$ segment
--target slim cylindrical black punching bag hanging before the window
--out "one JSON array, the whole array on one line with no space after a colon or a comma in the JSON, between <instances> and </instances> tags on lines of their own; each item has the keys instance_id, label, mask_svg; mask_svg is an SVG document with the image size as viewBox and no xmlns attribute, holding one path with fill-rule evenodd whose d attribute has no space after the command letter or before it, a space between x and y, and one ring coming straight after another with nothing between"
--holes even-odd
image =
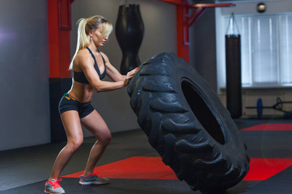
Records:
<instances>
[{"instance_id":1,"label":"slim cylindrical black punching bag hanging before the window","mask_svg":"<svg viewBox=\"0 0 292 194\"><path fill-rule=\"evenodd\" d=\"M242 112L240 34L225 35L227 110L232 118Z\"/></svg>"}]
</instances>

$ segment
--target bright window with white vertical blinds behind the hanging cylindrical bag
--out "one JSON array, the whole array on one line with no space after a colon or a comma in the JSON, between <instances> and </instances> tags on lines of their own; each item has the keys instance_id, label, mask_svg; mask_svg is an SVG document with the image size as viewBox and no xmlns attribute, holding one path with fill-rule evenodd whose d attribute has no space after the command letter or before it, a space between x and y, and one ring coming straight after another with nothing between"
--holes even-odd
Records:
<instances>
[{"instance_id":1,"label":"bright window with white vertical blinds behind the hanging cylindrical bag","mask_svg":"<svg viewBox=\"0 0 292 194\"><path fill-rule=\"evenodd\" d=\"M292 85L292 15L235 16L242 86ZM229 16L225 18L225 29ZM228 33L237 33L235 26Z\"/></svg>"}]
</instances>

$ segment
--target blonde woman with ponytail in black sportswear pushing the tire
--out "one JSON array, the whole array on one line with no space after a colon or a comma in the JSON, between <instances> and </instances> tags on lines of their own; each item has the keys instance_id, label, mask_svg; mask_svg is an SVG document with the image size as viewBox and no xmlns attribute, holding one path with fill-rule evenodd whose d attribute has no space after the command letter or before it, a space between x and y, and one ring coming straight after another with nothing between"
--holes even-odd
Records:
<instances>
[{"instance_id":1,"label":"blonde woman with ponytail in black sportswear pushing the tire","mask_svg":"<svg viewBox=\"0 0 292 194\"><path fill-rule=\"evenodd\" d=\"M71 90L65 93L59 103L59 112L65 128L68 143L58 154L50 178L45 185L45 193L64 194L64 189L57 179L75 151L83 142L81 124L97 139L91 148L84 174L79 184L105 184L109 179L101 178L93 172L97 161L102 156L111 140L110 130L91 105L93 90L105 92L128 85L136 71L133 69L123 76L114 68L103 52L98 50L108 41L112 31L111 23L103 16L92 16L78 20L77 49L69 69L73 70ZM113 82L101 81L106 74Z\"/></svg>"}]
</instances>

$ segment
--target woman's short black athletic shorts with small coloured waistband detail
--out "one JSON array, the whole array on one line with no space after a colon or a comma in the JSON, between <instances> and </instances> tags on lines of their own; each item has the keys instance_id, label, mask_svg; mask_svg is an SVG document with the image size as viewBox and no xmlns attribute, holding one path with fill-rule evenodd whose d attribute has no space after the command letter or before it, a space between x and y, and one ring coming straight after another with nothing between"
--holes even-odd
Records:
<instances>
[{"instance_id":1,"label":"woman's short black athletic shorts with small coloured waistband detail","mask_svg":"<svg viewBox=\"0 0 292 194\"><path fill-rule=\"evenodd\" d=\"M59 113L64 113L66 111L77 111L80 118L83 118L89 115L92 111L94 111L93 106L90 102L80 103L77 100L73 99L69 96L68 92L64 94L59 103Z\"/></svg>"}]
</instances>

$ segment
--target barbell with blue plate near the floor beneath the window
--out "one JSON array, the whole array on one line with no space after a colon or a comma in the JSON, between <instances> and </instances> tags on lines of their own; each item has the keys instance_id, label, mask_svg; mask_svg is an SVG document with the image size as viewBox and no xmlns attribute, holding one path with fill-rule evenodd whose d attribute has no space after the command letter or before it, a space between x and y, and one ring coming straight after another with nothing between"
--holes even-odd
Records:
<instances>
[{"instance_id":1,"label":"barbell with blue plate near the floor beneath the window","mask_svg":"<svg viewBox=\"0 0 292 194\"><path fill-rule=\"evenodd\" d=\"M284 103L292 103L292 101L285 101L283 102L280 97L277 97L276 103L273 106L263 106L263 101L259 97L256 101L256 106L247 106L246 109L256 109L257 117L261 118L263 114L263 109L275 109L277 111L284 112L284 117L289 118L292 116L292 111L284 111L283 104Z\"/></svg>"}]
</instances>

